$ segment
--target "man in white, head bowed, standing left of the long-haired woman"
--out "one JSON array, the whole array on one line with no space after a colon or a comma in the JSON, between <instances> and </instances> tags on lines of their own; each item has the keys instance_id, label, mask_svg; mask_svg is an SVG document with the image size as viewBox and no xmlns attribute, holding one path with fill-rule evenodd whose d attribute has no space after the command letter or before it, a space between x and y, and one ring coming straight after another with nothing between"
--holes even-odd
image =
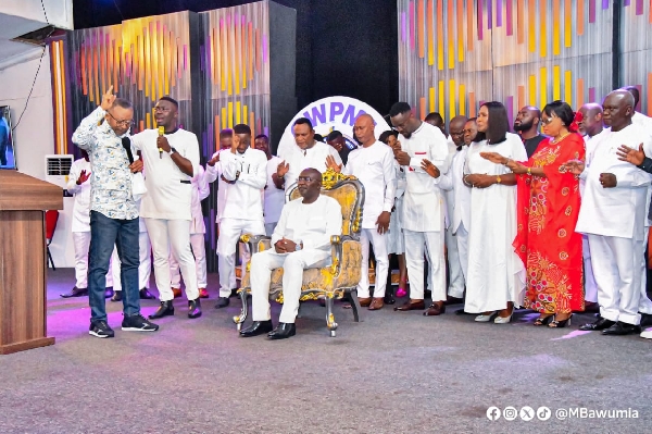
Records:
<instances>
[{"instance_id":1,"label":"man in white, head bowed, standing left of the long-haired woman","mask_svg":"<svg viewBox=\"0 0 652 434\"><path fill-rule=\"evenodd\" d=\"M432 303L425 312L444 312L447 299L446 261L443 259L446 212L440 182L448 172L448 144L441 131L414 116L406 102L397 102L390 112L391 123L400 133L401 150L394 152L405 170L403 233L405 262L410 276L410 300L398 311L424 309L424 245L432 282Z\"/></svg>"}]
</instances>

